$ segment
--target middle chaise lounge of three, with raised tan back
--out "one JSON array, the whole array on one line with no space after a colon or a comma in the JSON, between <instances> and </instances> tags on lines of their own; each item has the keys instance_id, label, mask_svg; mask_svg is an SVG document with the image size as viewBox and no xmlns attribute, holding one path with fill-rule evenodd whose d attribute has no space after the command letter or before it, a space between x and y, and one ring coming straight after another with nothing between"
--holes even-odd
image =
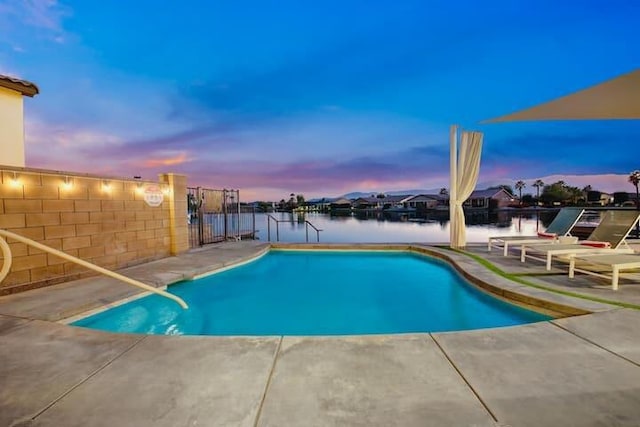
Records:
<instances>
[{"instance_id":1,"label":"middle chaise lounge of three, with raised tan back","mask_svg":"<svg viewBox=\"0 0 640 427\"><path fill-rule=\"evenodd\" d=\"M630 254L630 248L625 239L629 235L633 226L640 219L637 211L607 211L602 221L593 230L587 240L575 244L553 244L553 245L522 245L520 261L525 262L527 253L544 255L547 261L547 270L551 270L551 259L553 256L566 256L569 259L580 255L608 255L608 254Z\"/></svg>"}]
</instances>

